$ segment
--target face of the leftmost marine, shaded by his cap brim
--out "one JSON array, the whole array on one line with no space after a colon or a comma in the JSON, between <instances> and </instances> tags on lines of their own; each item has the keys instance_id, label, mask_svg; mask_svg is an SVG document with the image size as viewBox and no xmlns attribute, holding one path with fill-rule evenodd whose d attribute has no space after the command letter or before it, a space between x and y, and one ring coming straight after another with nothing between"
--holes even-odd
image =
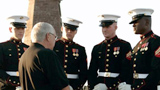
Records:
<instances>
[{"instance_id":1,"label":"face of the leftmost marine, shaded by his cap brim","mask_svg":"<svg viewBox=\"0 0 160 90\"><path fill-rule=\"evenodd\" d=\"M25 28L22 27L10 27L9 28L10 32L12 33L12 37L17 39L17 40L22 40Z\"/></svg>"}]
</instances>

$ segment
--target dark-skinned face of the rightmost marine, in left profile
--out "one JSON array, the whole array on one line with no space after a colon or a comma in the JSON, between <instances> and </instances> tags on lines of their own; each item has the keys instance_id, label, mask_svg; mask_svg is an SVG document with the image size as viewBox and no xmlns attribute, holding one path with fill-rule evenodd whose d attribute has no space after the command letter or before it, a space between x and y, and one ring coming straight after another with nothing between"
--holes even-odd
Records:
<instances>
[{"instance_id":1,"label":"dark-skinned face of the rightmost marine, in left profile","mask_svg":"<svg viewBox=\"0 0 160 90\"><path fill-rule=\"evenodd\" d=\"M145 34L145 19L141 18L133 24L135 34Z\"/></svg>"}]
</instances>

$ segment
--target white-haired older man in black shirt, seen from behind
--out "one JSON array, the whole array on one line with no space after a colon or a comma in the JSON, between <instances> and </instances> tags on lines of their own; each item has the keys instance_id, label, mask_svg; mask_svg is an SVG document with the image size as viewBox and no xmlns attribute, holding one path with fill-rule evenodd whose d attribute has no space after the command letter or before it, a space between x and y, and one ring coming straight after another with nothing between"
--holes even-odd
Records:
<instances>
[{"instance_id":1,"label":"white-haired older man in black shirt, seen from behind","mask_svg":"<svg viewBox=\"0 0 160 90\"><path fill-rule=\"evenodd\" d=\"M23 90L70 90L59 58L53 52L56 32L51 24L37 23L31 32L32 45L19 63Z\"/></svg>"}]
</instances>

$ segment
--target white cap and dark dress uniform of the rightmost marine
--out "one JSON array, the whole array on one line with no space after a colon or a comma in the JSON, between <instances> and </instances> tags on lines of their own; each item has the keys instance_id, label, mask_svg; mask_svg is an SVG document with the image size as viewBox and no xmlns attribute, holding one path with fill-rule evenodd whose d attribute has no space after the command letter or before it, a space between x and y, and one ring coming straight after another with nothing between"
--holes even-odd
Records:
<instances>
[{"instance_id":1,"label":"white cap and dark dress uniform of the rightmost marine","mask_svg":"<svg viewBox=\"0 0 160 90\"><path fill-rule=\"evenodd\" d=\"M139 24L143 17L151 19L152 13L152 9L131 10L129 14L134 15L130 24ZM137 27L138 24L136 24ZM132 90L157 90L160 80L160 37L152 30L141 35L141 40L134 47L131 68Z\"/></svg>"}]
</instances>

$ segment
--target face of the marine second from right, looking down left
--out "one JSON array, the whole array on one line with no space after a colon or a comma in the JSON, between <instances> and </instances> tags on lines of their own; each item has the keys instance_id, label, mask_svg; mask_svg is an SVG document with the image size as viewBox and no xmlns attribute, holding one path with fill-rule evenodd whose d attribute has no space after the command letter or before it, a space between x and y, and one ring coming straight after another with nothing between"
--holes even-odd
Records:
<instances>
[{"instance_id":1,"label":"face of the marine second from right, looking down left","mask_svg":"<svg viewBox=\"0 0 160 90\"><path fill-rule=\"evenodd\" d=\"M113 23L109 27L102 27L102 33L106 40L111 39L115 36L115 31L117 29L116 23Z\"/></svg>"}]
</instances>

